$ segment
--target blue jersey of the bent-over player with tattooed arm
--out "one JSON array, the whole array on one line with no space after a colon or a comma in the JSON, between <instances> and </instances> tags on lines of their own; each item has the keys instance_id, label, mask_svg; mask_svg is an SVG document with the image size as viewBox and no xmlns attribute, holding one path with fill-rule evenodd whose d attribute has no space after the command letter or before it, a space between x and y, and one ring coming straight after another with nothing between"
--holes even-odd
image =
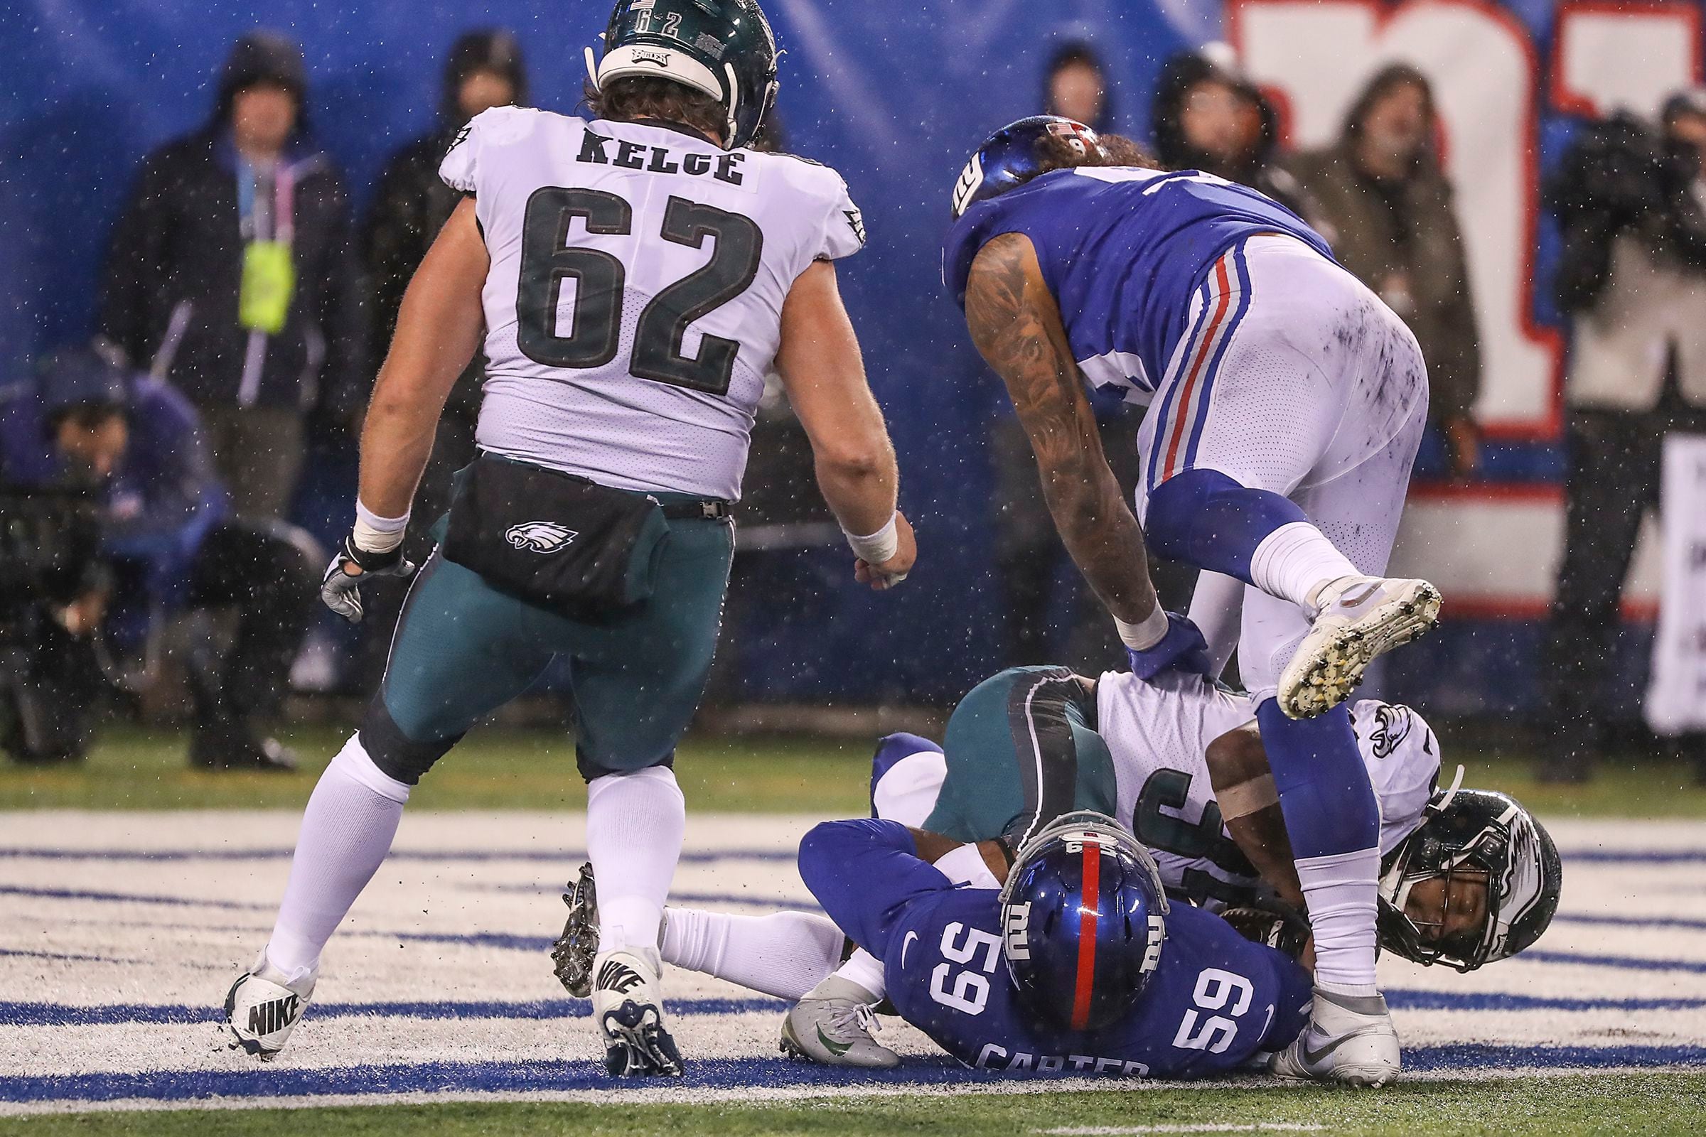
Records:
<instances>
[{"instance_id":1,"label":"blue jersey of the bent-over player with tattooed arm","mask_svg":"<svg viewBox=\"0 0 1706 1137\"><path fill-rule=\"evenodd\" d=\"M1036 247L1092 390L1140 406L1162 382L1191 295L1220 254L1254 234L1288 234L1332 257L1291 210L1213 174L1053 170L979 201L949 230L942 281L962 307L972 259L1001 234L1024 234Z\"/></svg>"}]
</instances>

